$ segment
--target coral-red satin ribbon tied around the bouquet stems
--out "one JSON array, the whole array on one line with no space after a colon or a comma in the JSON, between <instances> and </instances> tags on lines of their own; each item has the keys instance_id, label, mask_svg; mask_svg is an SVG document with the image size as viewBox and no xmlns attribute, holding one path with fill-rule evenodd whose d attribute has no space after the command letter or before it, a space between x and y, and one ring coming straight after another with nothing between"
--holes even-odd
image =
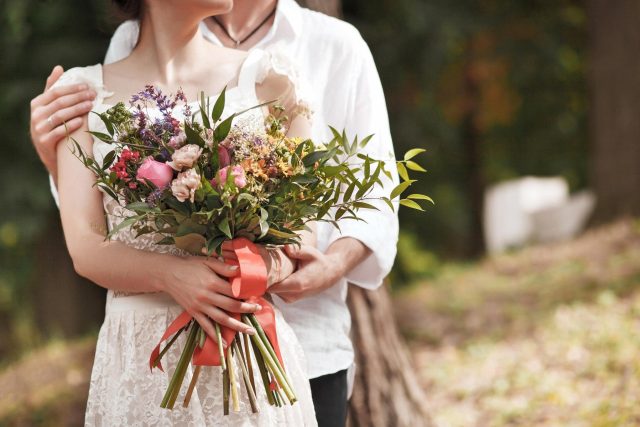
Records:
<instances>
[{"instance_id":1,"label":"coral-red satin ribbon tied around the bouquet stems","mask_svg":"<svg viewBox=\"0 0 640 427\"><path fill-rule=\"evenodd\" d=\"M258 323L262 326L265 334L271 341L271 345L276 352L276 356L282 366L282 356L280 355L280 346L278 345L278 336L276 335L276 318L271 303L267 301L263 295L267 291L267 266L258 251L256 245L244 237L233 239L231 241L233 251L238 258L238 274L231 278L231 291L233 296L238 299L242 299L254 304L260 304L262 309L254 313ZM235 264L233 261L227 261ZM238 313L229 313L229 315L237 320L240 320ZM164 335L160 339L158 345L151 352L149 358L149 367L153 370L154 362L160 355L160 345L166 341L173 334L178 332L189 324L193 317L186 311L183 311L167 328ZM220 332L222 337L227 342L227 346L224 348L226 351L228 346L236 336L236 331L225 326L220 325ZM192 363L193 365L201 366L220 366L220 352L218 351L218 344L210 337L207 336L202 348L196 346L193 353ZM158 360L158 368L164 372L162 364Z\"/></svg>"}]
</instances>

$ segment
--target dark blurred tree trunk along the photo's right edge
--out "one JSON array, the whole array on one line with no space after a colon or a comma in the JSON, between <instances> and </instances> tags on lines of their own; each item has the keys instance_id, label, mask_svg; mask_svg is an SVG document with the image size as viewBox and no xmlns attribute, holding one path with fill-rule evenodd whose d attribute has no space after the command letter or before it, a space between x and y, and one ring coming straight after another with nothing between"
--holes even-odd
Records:
<instances>
[{"instance_id":1,"label":"dark blurred tree trunk along the photo's right edge","mask_svg":"<svg viewBox=\"0 0 640 427\"><path fill-rule=\"evenodd\" d=\"M640 2L589 0L596 222L640 214Z\"/></svg>"}]
</instances>

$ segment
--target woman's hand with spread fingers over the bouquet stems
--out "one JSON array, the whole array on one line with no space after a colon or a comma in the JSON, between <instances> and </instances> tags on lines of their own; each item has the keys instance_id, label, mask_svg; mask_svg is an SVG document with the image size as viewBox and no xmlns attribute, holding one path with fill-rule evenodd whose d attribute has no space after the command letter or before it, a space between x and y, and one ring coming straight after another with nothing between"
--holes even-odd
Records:
<instances>
[{"instance_id":1,"label":"woman's hand with spread fingers over the bouquet stems","mask_svg":"<svg viewBox=\"0 0 640 427\"><path fill-rule=\"evenodd\" d=\"M212 322L239 332L253 335L255 330L229 316L231 313L253 313L261 309L257 304L233 298L226 278L237 274L237 267L215 258L187 257L172 265L163 277L161 289L170 294L215 340Z\"/></svg>"}]
</instances>

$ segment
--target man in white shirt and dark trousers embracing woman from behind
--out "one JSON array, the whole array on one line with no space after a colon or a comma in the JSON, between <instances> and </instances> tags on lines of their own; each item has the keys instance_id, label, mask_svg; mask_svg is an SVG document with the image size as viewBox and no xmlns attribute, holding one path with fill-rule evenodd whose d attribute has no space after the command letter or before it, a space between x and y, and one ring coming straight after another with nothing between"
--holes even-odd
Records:
<instances>
[{"instance_id":1,"label":"man in white shirt and dark trousers embracing woman from behind","mask_svg":"<svg viewBox=\"0 0 640 427\"><path fill-rule=\"evenodd\" d=\"M380 79L366 43L353 26L304 9L294 0L235 0L229 14L208 19L201 29L219 45L284 52L300 76L313 85L301 95L314 110L315 140L332 139L327 125L346 129L351 137L373 133L363 153L374 158L393 155ZM122 24L105 62L128 56L138 30L137 22ZM45 92L31 103L33 143L52 182L57 172L55 147L67 130L80 127L79 117L91 109L88 101L95 96L91 89L79 87L47 91L62 71L54 68ZM397 182L395 162L387 167L393 171L393 180L376 190L378 195L388 195ZM289 249L289 256L298 260L298 270L270 288L304 348L320 426L342 426L346 420L354 368L347 284L377 288L396 255L396 214L383 206L380 211L360 211L359 216L366 222L341 220L340 231L320 223L317 247Z\"/></svg>"}]
</instances>

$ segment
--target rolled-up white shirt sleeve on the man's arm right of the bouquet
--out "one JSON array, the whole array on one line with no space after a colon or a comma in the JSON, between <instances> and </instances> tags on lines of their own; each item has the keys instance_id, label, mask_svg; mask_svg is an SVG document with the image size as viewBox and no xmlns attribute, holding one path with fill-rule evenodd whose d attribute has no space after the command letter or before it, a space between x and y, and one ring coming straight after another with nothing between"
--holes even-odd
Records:
<instances>
[{"instance_id":1,"label":"rolled-up white shirt sleeve on the man's arm right of the bouquet","mask_svg":"<svg viewBox=\"0 0 640 427\"><path fill-rule=\"evenodd\" d=\"M349 81L355 84L350 98L346 130L350 138L358 135L362 139L367 135L374 135L361 152L371 158L384 160L391 178L381 174L383 185L376 185L371 197L388 197L398 184L398 171L384 92L371 51L360 36L354 50L351 56L353 72ZM349 282L365 289L376 289L382 284L393 266L398 242L397 203L394 203L393 211L381 200L374 200L371 204L379 210L360 209L357 215L363 221L341 219L338 221L340 229L334 228L329 238L330 245L340 238L352 237L371 250L371 254L346 275Z\"/></svg>"}]
</instances>

